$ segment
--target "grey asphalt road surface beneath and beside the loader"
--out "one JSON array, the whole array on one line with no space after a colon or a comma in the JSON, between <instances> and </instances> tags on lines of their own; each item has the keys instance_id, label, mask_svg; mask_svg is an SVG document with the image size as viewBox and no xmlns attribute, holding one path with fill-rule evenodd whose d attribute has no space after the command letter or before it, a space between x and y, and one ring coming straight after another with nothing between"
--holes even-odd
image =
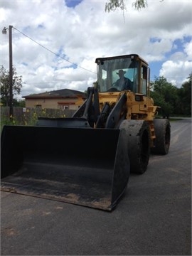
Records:
<instances>
[{"instance_id":1,"label":"grey asphalt road surface beneath and beside the loader","mask_svg":"<svg viewBox=\"0 0 192 256\"><path fill-rule=\"evenodd\" d=\"M1 192L1 255L191 255L191 119L112 212Z\"/></svg>"}]
</instances>

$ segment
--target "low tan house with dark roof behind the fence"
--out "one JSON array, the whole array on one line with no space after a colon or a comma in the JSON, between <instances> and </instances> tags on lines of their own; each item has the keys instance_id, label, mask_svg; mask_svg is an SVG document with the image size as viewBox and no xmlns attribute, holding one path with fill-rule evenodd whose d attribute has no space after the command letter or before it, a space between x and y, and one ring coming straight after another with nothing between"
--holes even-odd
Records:
<instances>
[{"instance_id":1,"label":"low tan house with dark roof behind the fence","mask_svg":"<svg viewBox=\"0 0 192 256\"><path fill-rule=\"evenodd\" d=\"M26 99L26 107L42 107L58 110L78 110L85 101L84 92L70 89L54 90L23 96Z\"/></svg>"}]
</instances>

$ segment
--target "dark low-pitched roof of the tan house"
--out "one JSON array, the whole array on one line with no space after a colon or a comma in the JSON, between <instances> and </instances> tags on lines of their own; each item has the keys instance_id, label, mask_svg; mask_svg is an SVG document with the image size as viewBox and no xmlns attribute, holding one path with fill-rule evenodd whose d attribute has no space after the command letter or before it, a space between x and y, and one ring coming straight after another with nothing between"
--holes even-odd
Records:
<instances>
[{"instance_id":1,"label":"dark low-pitched roof of the tan house","mask_svg":"<svg viewBox=\"0 0 192 256\"><path fill-rule=\"evenodd\" d=\"M31 99L31 98L53 98L53 97L86 97L84 92L80 92L78 90L70 90L70 89L61 89L61 90L54 90L50 92L42 92L36 93L31 95L23 96L23 98Z\"/></svg>"}]
</instances>

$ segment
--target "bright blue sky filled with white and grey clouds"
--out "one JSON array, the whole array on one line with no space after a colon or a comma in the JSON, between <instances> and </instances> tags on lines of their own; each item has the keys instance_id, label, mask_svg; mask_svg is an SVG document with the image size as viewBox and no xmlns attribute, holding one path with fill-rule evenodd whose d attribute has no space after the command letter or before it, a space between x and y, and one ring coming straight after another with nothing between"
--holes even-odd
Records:
<instances>
[{"instance_id":1,"label":"bright blue sky filled with white and grey clouds","mask_svg":"<svg viewBox=\"0 0 192 256\"><path fill-rule=\"evenodd\" d=\"M11 29L13 65L22 75L18 99L97 80L95 58L139 54L151 80L177 87L192 72L192 0L148 0L137 11L105 12L107 0L1 0L0 23ZM9 29L0 36L0 65L9 70Z\"/></svg>"}]
</instances>

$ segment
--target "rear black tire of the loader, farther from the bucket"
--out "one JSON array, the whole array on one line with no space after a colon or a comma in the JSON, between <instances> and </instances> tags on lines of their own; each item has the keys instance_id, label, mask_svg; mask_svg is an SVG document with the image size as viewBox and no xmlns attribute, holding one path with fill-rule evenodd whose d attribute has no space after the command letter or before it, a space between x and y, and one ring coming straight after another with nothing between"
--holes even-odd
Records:
<instances>
[{"instance_id":1,"label":"rear black tire of the loader, farther from the bucket","mask_svg":"<svg viewBox=\"0 0 192 256\"><path fill-rule=\"evenodd\" d=\"M151 152L154 154L168 154L171 140L171 125L169 119L154 119L154 130L156 139Z\"/></svg>"}]
</instances>

